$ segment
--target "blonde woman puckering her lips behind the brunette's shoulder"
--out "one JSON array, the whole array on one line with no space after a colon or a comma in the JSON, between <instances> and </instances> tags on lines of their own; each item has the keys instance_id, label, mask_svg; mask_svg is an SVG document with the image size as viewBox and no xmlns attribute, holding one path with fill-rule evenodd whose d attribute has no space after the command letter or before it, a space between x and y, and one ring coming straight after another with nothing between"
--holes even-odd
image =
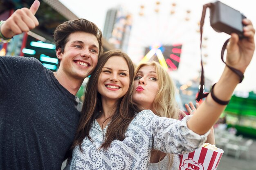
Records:
<instances>
[{"instance_id":1,"label":"blonde woman puckering her lips behind the brunette's shoulder","mask_svg":"<svg viewBox=\"0 0 256 170\"><path fill-rule=\"evenodd\" d=\"M176 92L177 88L173 80L159 63L153 61L137 65L132 99L139 109L149 109L157 116L181 120L186 114L178 107L175 100ZM189 105L186 104L185 107L189 113L195 110L192 102ZM207 142L215 144L214 136L211 137L211 135L213 133L207 137L207 140L211 139ZM179 164L179 155L166 154L153 149L148 169L177 170Z\"/></svg>"}]
</instances>

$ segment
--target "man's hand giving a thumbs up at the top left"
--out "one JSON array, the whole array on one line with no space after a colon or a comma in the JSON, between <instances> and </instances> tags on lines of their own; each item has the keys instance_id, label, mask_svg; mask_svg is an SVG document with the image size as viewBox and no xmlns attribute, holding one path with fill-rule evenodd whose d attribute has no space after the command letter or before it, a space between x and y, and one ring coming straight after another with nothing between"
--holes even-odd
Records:
<instances>
[{"instance_id":1,"label":"man's hand giving a thumbs up at the top left","mask_svg":"<svg viewBox=\"0 0 256 170\"><path fill-rule=\"evenodd\" d=\"M22 8L16 10L1 26L0 31L6 38L28 32L39 25L34 16L38 10L40 2L35 0L30 9Z\"/></svg>"}]
</instances>

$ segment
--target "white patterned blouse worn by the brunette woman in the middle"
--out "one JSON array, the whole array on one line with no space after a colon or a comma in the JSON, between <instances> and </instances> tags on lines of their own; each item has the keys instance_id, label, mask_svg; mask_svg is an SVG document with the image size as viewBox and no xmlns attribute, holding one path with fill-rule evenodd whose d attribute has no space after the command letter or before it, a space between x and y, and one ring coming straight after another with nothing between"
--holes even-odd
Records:
<instances>
[{"instance_id":1,"label":"white patterned blouse worn by the brunette woman in the middle","mask_svg":"<svg viewBox=\"0 0 256 170\"><path fill-rule=\"evenodd\" d=\"M186 121L158 117L150 110L136 113L126 131L123 141L114 140L110 147L99 149L105 138L108 125L103 129L94 120L90 129L91 142L88 137L76 146L65 170L115 170L147 169L151 149L164 153L184 154L201 146L208 133L198 135L188 129Z\"/></svg>"}]
</instances>

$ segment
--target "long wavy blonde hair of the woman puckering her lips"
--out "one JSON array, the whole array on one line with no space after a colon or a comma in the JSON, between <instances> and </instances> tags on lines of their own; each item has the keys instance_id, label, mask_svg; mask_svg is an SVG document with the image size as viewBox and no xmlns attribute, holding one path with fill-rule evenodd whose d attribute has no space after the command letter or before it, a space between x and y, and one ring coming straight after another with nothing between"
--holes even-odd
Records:
<instances>
[{"instance_id":1,"label":"long wavy blonde hair of the woman puckering her lips","mask_svg":"<svg viewBox=\"0 0 256 170\"><path fill-rule=\"evenodd\" d=\"M149 63L141 63L137 65L135 68L135 76L139 69L144 66L154 66L156 71L156 78L158 82L158 92L155 96L155 100L153 102L153 112L160 117L179 119L180 118L180 109L175 100L175 94L177 92L177 88L169 76L168 72L164 70L164 68L157 62L152 61ZM136 104L135 104L136 105ZM139 106L137 106L139 107ZM147 109L147 108L140 108ZM157 150L157 152L160 152ZM171 168L173 164L173 154L166 154L168 156L168 167ZM162 160L162 157L159 157L159 161Z\"/></svg>"}]
</instances>

